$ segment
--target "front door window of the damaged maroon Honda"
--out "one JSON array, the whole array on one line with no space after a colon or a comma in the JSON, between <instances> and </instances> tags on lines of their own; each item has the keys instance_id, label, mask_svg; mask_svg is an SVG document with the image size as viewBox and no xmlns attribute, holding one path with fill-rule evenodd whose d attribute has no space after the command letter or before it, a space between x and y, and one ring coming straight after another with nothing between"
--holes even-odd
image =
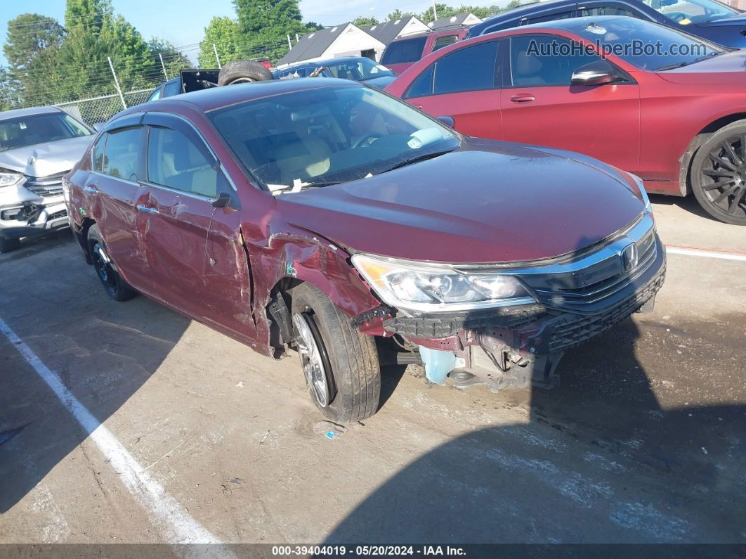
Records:
<instances>
[{"instance_id":1,"label":"front door window of the damaged maroon Honda","mask_svg":"<svg viewBox=\"0 0 746 559\"><path fill-rule=\"evenodd\" d=\"M203 143L160 126L151 127L148 138L148 181L209 198L230 192Z\"/></svg>"}]
</instances>

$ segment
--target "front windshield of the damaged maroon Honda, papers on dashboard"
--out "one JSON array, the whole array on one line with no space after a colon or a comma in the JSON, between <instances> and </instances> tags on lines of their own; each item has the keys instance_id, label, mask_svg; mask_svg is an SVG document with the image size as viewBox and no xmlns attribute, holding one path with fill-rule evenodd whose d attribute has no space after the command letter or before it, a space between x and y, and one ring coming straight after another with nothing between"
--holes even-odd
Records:
<instances>
[{"instance_id":1,"label":"front windshield of the damaged maroon Honda, papers on dashboard","mask_svg":"<svg viewBox=\"0 0 746 559\"><path fill-rule=\"evenodd\" d=\"M361 85L282 93L208 114L273 191L354 181L460 144L438 121Z\"/></svg>"}]
</instances>

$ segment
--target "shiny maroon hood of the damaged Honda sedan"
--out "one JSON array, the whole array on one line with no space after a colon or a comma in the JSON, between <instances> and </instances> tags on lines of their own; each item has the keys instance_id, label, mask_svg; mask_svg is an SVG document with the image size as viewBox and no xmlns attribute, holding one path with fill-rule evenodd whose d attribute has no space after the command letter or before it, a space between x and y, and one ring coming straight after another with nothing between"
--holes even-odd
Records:
<instances>
[{"instance_id":1,"label":"shiny maroon hood of the damaged Honda sedan","mask_svg":"<svg viewBox=\"0 0 746 559\"><path fill-rule=\"evenodd\" d=\"M278 196L288 222L352 251L487 263L555 257L642 213L639 190L590 157L489 140L345 184Z\"/></svg>"}]
</instances>

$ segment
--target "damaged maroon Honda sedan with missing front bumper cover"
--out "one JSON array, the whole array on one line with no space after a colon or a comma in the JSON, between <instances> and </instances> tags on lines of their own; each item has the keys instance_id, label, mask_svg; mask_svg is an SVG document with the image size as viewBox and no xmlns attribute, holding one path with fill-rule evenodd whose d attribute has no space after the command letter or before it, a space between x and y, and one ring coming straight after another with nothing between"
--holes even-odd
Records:
<instances>
[{"instance_id":1,"label":"damaged maroon Honda sedan with missing front bumper cover","mask_svg":"<svg viewBox=\"0 0 746 559\"><path fill-rule=\"evenodd\" d=\"M639 179L471 140L333 78L237 85L119 113L66 176L72 227L134 290L281 357L348 422L380 366L551 384L562 352L650 307L660 245Z\"/></svg>"}]
</instances>

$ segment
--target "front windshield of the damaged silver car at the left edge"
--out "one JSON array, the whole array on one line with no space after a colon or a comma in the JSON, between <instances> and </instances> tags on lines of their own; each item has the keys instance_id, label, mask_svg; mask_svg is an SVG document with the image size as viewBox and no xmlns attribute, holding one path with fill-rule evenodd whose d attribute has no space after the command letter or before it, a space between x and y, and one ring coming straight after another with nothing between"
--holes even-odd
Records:
<instances>
[{"instance_id":1,"label":"front windshield of the damaged silver car at the left edge","mask_svg":"<svg viewBox=\"0 0 746 559\"><path fill-rule=\"evenodd\" d=\"M0 152L90 134L88 128L65 113L16 116L0 120Z\"/></svg>"}]
</instances>

